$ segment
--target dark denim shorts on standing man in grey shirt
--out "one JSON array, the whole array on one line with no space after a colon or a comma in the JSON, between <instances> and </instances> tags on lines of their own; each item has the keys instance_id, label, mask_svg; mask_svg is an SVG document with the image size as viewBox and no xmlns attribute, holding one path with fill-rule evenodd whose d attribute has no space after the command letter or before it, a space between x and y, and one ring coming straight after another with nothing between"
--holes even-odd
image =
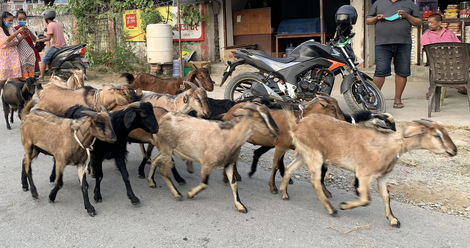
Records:
<instances>
[{"instance_id":1,"label":"dark denim shorts on standing man in grey shirt","mask_svg":"<svg viewBox=\"0 0 470 248\"><path fill-rule=\"evenodd\" d=\"M387 44L376 46L376 72L374 77L392 76L392 63L395 74L401 77L411 75L411 44Z\"/></svg>"}]
</instances>

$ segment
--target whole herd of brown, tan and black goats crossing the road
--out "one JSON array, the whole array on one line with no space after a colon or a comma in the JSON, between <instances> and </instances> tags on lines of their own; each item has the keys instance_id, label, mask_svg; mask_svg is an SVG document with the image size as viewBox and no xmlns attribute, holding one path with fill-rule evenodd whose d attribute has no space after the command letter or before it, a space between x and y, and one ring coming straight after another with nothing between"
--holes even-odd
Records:
<instances>
[{"instance_id":1,"label":"whole herd of brown, tan and black goats crossing the road","mask_svg":"<svg viewBox=\"0 0 470 248\"><path fill-rule=\"evenodd\" d=\"M235 163L242 145L249 142L261 146L254 152L250 176L256 171L259 157L275 149L268 183L272 194L278 193L274 178L279 170L282 199L289 200L290 178L305 164L321 203L329 214L335 215L337 210L327 199L331 198L331 193L323 183L328 166L335 165L355 173L356 192L360 197L358 201L342 202L340 209L368 205L370 183L377 178L385 216L392 226L399 227L400 222L390 208L386 183L400 155L416 149L447 156L457 154L443 124L420 119L403 124L397 132L392 115L363 111L349 116L341 111L337 100L328 95L317 95L318 100L298 107L290 104L279 107L267 98L212 99L206 93L214 88L209 70L197 66L186 78L164 79L146 73L135 78L125 73L122 77L128 84L103 85L102 89L86 86L87 78L82 71L75 71L68 81L53 76L46 85L39 84L35 78L2 85L7 128L11 129L8 115L11 113L13 123L15 110L22 120L24 191L31 190L32 197L38 198L31 160L40 153L53 156L50 181L55 182L55 187L49 194L49 202L55 201L63 186L65 165L75 165L85 209L94 216L96 211L88 198L86 174L96 179L94 201L101 202L102 162L114 159L127 196L134 205L139 204L125 164L127 144L139 143L143 159L138 176L145 177L145 164L151 162L150 187L156 186L154 172L158 165L174 197L181 199L169 175L171 170L180 185L186 183L174 167L174 155L187 161L190 173L193 172L192 162L201 163L201 183L187 193L188 198L207 188L212 169L223 169L224 181L230 183L234 194L235 207L246 213L247 208L238 195L236 181L241 177ZM32 99L35 92L39 104L37 109L31 110L36 104ZM149 147L145 149L144 144ZM153 147L157 147L158 154L149 160ZM294 160L284 168L284 155L290 149L294 149Z\"/></svg>"}]
</instances>

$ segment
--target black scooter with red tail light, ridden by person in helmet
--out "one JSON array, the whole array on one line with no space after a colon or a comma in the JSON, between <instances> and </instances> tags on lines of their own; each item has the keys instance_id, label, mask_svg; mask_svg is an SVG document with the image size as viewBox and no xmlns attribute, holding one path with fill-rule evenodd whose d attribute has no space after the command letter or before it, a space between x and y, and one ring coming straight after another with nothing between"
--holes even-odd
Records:
<instances>
[{"instance_id":1,"label":"black scooter with red tail light, ridden by person in helmet","mask_svg":"<svg viewBox=\"0 0 470 248\"><path fill-rule=\"evenodd\" d=\"M44 31L47 32L47 29ZM45 38L44 35L40 35L39 39L42 39L41 37ZM42 41L36 42L35 45L38 52L42 52L45 47L44 44L41 44L41 42ZM52 55L50 61L51 66L49 70L46 70L44 75L57 75L61 78L67 79L70 78L74 70L83 70L83 72L86 74L86 68L89 68L90 64L84 57L85 52L86 44L64 47L57 50L54 55ZM35 72L36 76L39 74L40 72Z\"/></svg>"}]
</instances>

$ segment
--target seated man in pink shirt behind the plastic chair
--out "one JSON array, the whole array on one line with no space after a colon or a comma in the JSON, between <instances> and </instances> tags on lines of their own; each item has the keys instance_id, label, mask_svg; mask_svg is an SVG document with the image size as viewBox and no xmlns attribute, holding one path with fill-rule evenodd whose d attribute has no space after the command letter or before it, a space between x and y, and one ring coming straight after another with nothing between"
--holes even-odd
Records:
<instances>
[{"instance_id":1,"label":"seated man in pink shirt behind the plastic chair","mask_svg":"<svg viewBox=\"0 0 470 248\"><path fill-rule=\"evenodd\" d=\"M428 18L429 30L421 36L421 48L424 45L439 43L439 42L461 42L454 32L441 27L442 16L439 14L432 14ZM459 93L467 93L465 87L455 87ZM429 97L429 92L426 93L426 99Z\"/></svg>"}]
</instances>

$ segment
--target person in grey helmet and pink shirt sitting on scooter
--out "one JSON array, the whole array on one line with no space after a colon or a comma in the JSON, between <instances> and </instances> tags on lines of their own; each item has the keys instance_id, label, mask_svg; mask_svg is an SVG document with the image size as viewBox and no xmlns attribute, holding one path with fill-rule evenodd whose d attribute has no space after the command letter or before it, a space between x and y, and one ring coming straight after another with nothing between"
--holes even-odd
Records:
<instances>
[{"instance_id":1,"label":"person in grey helmet and pink shirt sitting on scooter","mask_svg":"<svg viewBox=\"0 0 470 248\"><path fill-rule=\"evenodd\" d=\"M62 24L55 22L55 11L54 9L46 9L42 12L44 16L44 20L47 23L47 37L44 39L38 39L37 41L51 41L51 46L47 48L44 55L41 58L41 64L39 66L39 70L41 71L41 75L39 75L38 81L44 81L44 73L46 72L46 65L50 63L52 55L57 52L57 50L67 47L65 43L65 37L63 35L63 28ZM49 64L50 67L50 64Z\"/></svg>"}]
</instances>

